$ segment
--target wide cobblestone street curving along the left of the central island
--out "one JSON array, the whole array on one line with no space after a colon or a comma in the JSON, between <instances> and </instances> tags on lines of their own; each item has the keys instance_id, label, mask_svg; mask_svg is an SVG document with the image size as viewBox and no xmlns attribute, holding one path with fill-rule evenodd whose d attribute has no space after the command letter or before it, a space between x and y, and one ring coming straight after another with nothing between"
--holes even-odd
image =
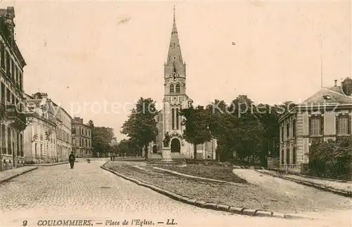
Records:
<instances>
[{"instance_id":1,"label":"wide cobblestone street curving along the left of the central island","mask_svg":"<svg viewBox=\"0 0 352 227\"><path fill-rule=\"evenodd\" d=\"M175 219L177 226L348 226L341 219L268 219L185 205L120 179L101 169L101 164L94 160L90 164L78 162L75 169L68 164L39 167L2 183L0 225L22 226L26 220L27 226L37 226L40 219L92 219L94 226L105 219L146 219L155 223Z\"/></svg>"}]
</instances>

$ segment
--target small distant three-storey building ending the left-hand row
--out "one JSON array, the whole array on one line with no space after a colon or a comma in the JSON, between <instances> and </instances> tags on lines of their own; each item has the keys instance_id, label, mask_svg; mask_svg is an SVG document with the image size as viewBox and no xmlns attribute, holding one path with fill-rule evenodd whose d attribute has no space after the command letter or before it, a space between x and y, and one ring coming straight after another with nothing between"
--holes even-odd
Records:
<instances>
[{"instance_id":1,"label":"small distant three-storey building ending the left-hand row","mask_svg":"<svg viewBox=\"0 0 352 227\"><path fill-rule=\"evenodd\" d=\"M72 148L76 157L93 157L92 128L83 123L83 119L75 117L71 122Z\"/></svg>"}]
</instances>

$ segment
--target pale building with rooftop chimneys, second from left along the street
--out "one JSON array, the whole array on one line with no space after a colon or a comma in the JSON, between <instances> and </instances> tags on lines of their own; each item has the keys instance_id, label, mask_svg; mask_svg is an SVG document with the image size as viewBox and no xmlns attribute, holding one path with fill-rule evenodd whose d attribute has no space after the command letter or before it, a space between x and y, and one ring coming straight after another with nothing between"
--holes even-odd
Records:
<instances>
[{"instance_id":1,"label":"pale building with rooftop chimneys, second from left along the street","mask_svg":"<svg viewBox=\"0 0 352 227\"><path fill-rule=\"evenodd\" d=\"M25 129L25 162L57 162L56 116L46 93L25 95L27 128Z\"/></svg>"}]
</instances>

